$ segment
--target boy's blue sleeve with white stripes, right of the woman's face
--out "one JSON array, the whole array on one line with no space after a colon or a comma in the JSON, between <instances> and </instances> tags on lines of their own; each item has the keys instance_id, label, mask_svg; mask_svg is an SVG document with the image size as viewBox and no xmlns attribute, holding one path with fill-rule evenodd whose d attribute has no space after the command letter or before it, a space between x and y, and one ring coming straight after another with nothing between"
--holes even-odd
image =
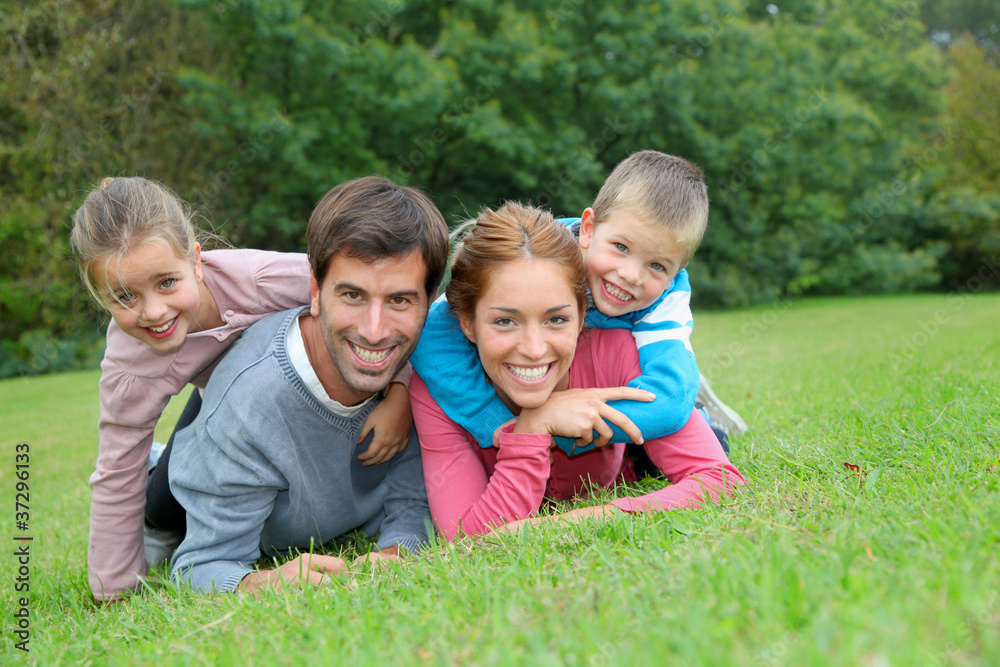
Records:
<instances>
[{"instance_id":1,"label":"boy's blue sleeve with white stripes, right of the woman's face","mask_svg":"<svg viewBox=\"0 0 1000 667\"><path fill-rule=\"evenodd\" d=\"M587 324L602 329L632 330L639 348L642 374L628 386L656 395L650 403L612 401L608 405L631 419L646 440L679 431L691 416L700 383L698 364L691 349L694 321L687 270L682 269L670 289L649 308L621 317L607 317L592 311L587 314ZM624 431L607 423L612 431L611 442L631 442ZM573 440L557 437L556 444L568 452L572 449ZM585 452L592 448L593 445L589 445L573 451Z\"/></svg>"}]
</instances>

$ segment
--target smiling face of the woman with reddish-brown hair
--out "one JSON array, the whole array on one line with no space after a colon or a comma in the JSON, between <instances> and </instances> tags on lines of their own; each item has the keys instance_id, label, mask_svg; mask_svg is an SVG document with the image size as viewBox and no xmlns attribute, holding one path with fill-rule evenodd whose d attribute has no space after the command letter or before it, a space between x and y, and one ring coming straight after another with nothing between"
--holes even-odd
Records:
<instances>
[{"instance_id":1,"label":"smiling face of the woman with reddish-brown hair","mask_svg":"<svg viewBox=\"0 0 1000 667\"><path fill-rule=\"evenodd\" d=\"M583 320L562 266L518 259L490 278L462 331L497 395L515 412L536 408L569 386L569 367Z\"/></svg>"}]
</instances>

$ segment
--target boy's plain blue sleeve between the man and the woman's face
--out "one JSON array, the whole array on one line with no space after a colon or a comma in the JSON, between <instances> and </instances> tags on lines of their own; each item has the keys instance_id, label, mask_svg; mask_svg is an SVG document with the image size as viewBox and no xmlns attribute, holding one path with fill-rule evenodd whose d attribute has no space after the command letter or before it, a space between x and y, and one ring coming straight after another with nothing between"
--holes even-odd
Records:
<instances>
[{"instance_id":1,"label":"boy's plain blue sleeve between the man and the woman's face","mask_svg":"<svg viewBox=\"0 0 1000 667\"><path fill-rule=\"evenodd\" d=\"M444 413L480 447L492 447L493 431L514 418L487 382L475 346L443 296L431 305L410 363Z\"/></svg>"}]
</instances>

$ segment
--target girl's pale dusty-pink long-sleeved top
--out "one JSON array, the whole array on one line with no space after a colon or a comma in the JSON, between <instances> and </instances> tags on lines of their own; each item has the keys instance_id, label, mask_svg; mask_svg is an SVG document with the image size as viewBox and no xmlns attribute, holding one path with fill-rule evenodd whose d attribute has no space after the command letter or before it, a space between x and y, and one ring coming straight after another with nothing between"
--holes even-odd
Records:
<instances>
[{"instance_id":1,"label":"girl's pale dusty-pink long-sleeved top","mask_svg":"<svg viewBox=\"0 0 1000 667\"><path fill-rule=\"evenodd\" d=\"M101 363L100 445L90 476L90 590L120 597L146 573L142 548L146 467L153 428L171 396L204 387L222 355L251 324L309 303L309 263L297 253L213 250L202 254L205 284L227 326L189 334L175 353L159 354L112 320Z\"/></svg>"}]
</instances>

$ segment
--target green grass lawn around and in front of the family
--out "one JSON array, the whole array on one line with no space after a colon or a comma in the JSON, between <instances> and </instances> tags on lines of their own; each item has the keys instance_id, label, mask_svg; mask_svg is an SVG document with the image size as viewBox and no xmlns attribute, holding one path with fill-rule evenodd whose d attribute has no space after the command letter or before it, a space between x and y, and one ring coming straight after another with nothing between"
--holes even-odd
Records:
<instances>
[{"instance_id":1,"label":"green grass lawn around and in front of the family","mask_svg":"<svg viewBox=\"0 0 1000 667\"><path fill-rule=\"evenodd\" d=\"M19 534L14 445L31 444L27 657L1000 664L1000 296L706 313L694 344L752 428L732 455L749 484L724 506L440 545L388 572L263 600L153 582L106 609L86 586L98 374L4 381L8 545ZM3 644L23 659L12 552L0 555Z\"/></svg>"}]
</instances>

